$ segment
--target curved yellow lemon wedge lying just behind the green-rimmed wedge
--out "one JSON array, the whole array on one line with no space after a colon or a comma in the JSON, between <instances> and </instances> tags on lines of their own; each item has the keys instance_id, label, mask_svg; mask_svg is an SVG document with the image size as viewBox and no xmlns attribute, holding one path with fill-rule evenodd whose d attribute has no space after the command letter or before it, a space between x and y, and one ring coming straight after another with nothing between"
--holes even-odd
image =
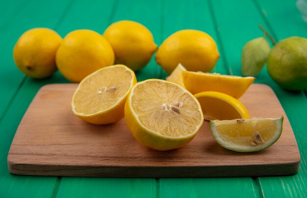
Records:
<instances>
[{"instance_id":1,"label":"curved yellow lemon wedge lying just behind the green-rimmed wedge","mask_svg":"<svg viewBox=\"0 0 307 198\"><path fill-rule=\"evenodd\" d=\"M225 93L204 91L194 96L200 102L206 120L250 118L244 105Z\"/></svg>"}]
</instances>

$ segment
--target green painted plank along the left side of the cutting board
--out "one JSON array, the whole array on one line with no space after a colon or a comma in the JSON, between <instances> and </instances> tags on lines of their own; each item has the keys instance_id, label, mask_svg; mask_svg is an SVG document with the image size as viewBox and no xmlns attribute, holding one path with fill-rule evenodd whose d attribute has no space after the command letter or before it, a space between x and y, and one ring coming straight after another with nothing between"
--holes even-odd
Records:
<instances>
[{"instance_id":1,"label":"green painted plank along the left side of the cutting board","mask_svg":"<svg viewBox=\"0 0 307 198\"><path fill-rule=\"evenodd\" d=\"M25 84L12 101L0 122L0 197L50 197L56 177L23 176L9 173L7 154L9 147L27 107L37 90L45 84L61 82L59 73L46 80L26 79Z\"/></svg>"}]
</instances>

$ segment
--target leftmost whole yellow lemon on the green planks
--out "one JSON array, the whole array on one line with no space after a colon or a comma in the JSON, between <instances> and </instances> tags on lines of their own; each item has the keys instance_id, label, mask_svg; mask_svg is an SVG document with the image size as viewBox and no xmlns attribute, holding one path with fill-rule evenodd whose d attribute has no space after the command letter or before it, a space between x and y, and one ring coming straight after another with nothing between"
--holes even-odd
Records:
<instances>
[{"instance_id":1,"label":"leftmost whole yellow lemon on the green planks","mask_svg":"<svg viewBox=\"0 0 307 198\"><path fill-rule=\"evenodd\" d=\"M28 77L49 77L56 71L55 53L61 41L62 38L52 29L29 29L14 46L15 64Z\"/></svg>"}]
</instances>

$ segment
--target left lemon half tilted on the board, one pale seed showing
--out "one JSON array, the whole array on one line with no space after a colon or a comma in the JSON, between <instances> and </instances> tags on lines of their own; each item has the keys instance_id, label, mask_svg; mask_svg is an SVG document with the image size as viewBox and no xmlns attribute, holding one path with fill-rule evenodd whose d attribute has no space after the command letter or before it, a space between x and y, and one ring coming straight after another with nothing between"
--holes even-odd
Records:
<instances>
[{"instance_id":1,"label":"left lemon half tilted on the board, one pale seed showing","mask_svg":"<svg viewBox=\"0 0 307 198\"><path fill-rule=\"evenodd\" d=\"M110 124L124 117L125 103L136 83L134 72L125 65L104 67L85 77L72 99L72 110L93 124Z\"/></svg>"}]
</instances>

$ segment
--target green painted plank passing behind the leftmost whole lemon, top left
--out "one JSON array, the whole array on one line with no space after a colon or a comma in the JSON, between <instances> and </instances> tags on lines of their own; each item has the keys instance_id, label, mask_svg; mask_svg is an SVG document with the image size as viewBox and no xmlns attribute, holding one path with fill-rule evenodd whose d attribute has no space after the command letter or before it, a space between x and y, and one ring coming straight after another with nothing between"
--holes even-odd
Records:
<instances>
[{"instance_id":1,"label":"green painted plank passing behind the leftmost whole lemon, top left","mask_svg":"<svg viewBox=\"0 0 307 198\"><path fill-rule=\"evenodd\" d=\"M18 91L21 85L24 74L16 67L13 61L13 47L18 38L28 29L36 27L54 28L64 9L66 9L69 1L51 1L37 2L29 0L22 9L18 10L16 16L10 20L5 28L0 29L0 52L1 52L1 68L5 73L2 73L0 78L0 119L7 105L12 100L12 97ZM16 7L19 8L19 4Z\"/></svg>"}]
</instances>

